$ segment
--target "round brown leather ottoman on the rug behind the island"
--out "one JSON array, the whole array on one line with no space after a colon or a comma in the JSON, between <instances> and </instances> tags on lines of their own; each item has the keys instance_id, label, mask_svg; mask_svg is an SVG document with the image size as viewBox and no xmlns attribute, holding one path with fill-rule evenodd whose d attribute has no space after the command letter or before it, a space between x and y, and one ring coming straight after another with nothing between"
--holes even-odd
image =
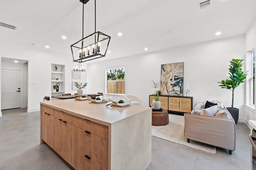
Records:
<instances>
[{"instance_id":1,"label":"round brown leather ottoman on the rug behind the island","mask_svg":"<svg viewBox=\"0 0 256 170\"><path fill-rule=\"evenodd\" d=\"M163 111L152 111L152 125L163 126L168 125L169 114L168 111L163 109Z\"/></svg>"}]
</instances>

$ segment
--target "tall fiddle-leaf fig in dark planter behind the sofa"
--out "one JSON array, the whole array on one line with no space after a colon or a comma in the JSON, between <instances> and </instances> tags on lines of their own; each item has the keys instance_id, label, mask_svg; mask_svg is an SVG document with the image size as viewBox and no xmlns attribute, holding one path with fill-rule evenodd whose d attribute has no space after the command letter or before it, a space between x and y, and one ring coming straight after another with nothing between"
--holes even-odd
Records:
<instances>
[{"instance_id":1,"label":"tall fiddle-leaf fig in dark planter behind the sofa","mask_svg":"<svg viewBox=\"0 0 256 170\"><path fill-rule=\"evenodd\" d=\"M239 109L234 108L234 90L238 87L241 83L244 83L244 79L246 79L247 72L244 73L242 71L243 59L232 59L229 65L229 75L230 79L222 80L219 85L221 88L229 89L232 91L232 105L231 107L227 107L228 111L232 115L235 123L238 122L239 116Z\"/></svg>"}]
</instances>

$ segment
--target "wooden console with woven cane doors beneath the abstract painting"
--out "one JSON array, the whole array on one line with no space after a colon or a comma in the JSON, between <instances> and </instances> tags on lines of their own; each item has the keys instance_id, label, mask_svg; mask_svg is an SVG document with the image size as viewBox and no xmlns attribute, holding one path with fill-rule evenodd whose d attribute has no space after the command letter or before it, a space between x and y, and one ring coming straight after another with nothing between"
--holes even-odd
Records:
<instances>
[{"instance_id":1,"label":"wooden console with woven cane doors beneath the abstract painting","mask_svg":"<svg viewBox=\"0 0 256 170\"><path fill-rule=\"evenodd\" d=\"M154 95L149 95L149 106L154 100ZM159 95L161 108L172 113L191 113L193 109L193 97Z\"/></svg>"}]
</instances>

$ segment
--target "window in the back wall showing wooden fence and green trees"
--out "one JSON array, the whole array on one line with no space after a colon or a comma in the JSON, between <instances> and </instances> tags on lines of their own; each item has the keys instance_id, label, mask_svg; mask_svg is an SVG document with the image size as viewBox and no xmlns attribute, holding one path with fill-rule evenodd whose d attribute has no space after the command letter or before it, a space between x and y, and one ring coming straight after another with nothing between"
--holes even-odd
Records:
<instances>
[{"instance_id":1,"label":"window in the back wall showing wooden fence and green trees","mask_svg":"<svg viewBox=\"0 0 256 170\"><path fill-rule=\"evenodd\" d=\"M124 67L106 69L106 94L124 95Z\"/></svg>"}]
</instances>

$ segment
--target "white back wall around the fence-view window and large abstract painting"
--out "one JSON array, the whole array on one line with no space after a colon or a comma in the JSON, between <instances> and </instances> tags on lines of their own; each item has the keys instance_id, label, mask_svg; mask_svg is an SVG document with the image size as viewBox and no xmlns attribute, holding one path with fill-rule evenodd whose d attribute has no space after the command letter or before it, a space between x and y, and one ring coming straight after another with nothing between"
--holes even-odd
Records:
<instances>
[{"instance_id":1,"label":"white back wall around the fence-view window and large abstract painting","mask_svg":"<svg viewBox=\"0 0 256 170\"><path fill-rule=\"evenodd\" d=\"M110 44L111 45L111 44ZM228 78L231 59L245 59L244 35L210 42L197 43L124 57L98 63L88 63L88 92L105 92L105 69L125 67L125 94L142 98L142 105L149 104L153 92L150 80L160 80L161 64L184 62L184 88L188 84L194 101L217 99L226 107L231 106L232 91L221 89L218 81ZM234 106L240 109L240 118L245 118L245 85L234 94ZM184 94L185 96L186 94Z\"/></svg>"}]
</instances>

